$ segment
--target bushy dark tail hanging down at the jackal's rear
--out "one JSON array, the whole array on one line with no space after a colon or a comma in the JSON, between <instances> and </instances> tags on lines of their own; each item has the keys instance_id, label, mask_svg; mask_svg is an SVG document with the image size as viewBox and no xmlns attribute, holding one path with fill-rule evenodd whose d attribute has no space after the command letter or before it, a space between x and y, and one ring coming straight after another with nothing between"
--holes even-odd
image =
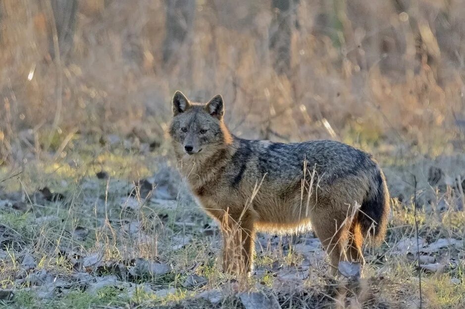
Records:
<instances>
[{"instance_id":1,"label":"bushy dark tail hanging down at the jackal's rear","mask_svg":"<svg viewBox=\"0 0 465 309\"><path fill-rule=\"evenodd\" d=\"M383 172L378 169L358 214L363 236L367 236L373 246L381 244L386 236L390 209L386 179Z\"/></svg>"}]
</instances>

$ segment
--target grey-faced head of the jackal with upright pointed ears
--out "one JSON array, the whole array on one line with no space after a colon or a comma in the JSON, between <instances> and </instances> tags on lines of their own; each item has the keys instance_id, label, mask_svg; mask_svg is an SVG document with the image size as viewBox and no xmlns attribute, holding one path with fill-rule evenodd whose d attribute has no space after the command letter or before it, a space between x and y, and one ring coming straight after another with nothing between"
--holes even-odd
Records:
<instances>
[{"instance_id":1,"label":"grey-faced head of the jackal with upright pointed ears","mask_svg":"<svg viewBox=\"0 0 465 309\"><path fill-rule=\"evenodd\" d=\"M223 115L221 95L202 104L190 102L184 94L176 91L169 130L176 153L179 156L205 154L231 143Z\"/></svg>"}]
</instances>

